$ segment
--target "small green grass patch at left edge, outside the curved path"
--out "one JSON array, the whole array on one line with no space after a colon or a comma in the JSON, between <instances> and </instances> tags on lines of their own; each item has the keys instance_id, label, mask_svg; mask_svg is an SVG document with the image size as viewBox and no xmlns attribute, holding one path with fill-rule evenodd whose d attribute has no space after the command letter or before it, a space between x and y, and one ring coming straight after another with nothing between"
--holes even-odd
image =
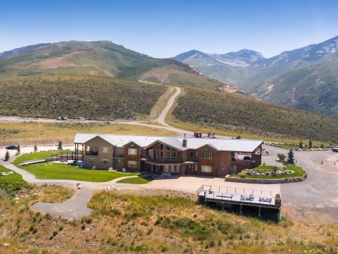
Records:
<instances>
[{"instance_id":1,"label":"small green grass patch at left edge, outside the curved path","mask_svg":"<svg viewBox=\"0 0 338 254\"><path fill-rule=\"evenodd\" d=\"M9 172L11 170L6 169L0 165L0 172ZM0 176L0 189L6 193L16 193L23 186L26 185L26 181L23 180L23 176L18 173L11 174L8 176Z\"/></svg>"}]
</instances>

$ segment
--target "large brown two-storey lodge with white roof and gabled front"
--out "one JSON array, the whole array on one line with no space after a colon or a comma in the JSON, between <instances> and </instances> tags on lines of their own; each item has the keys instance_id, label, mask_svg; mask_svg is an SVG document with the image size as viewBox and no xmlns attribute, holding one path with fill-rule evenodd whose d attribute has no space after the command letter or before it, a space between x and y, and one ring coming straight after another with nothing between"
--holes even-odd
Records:
<instances>
[{"instance_id":1,"label":"large brown two-storey lodge with white roof and gabled front","mask_svg":"<svg viewBox=\"0 0 338 254\"><path fill-rule=\"evenodd\" d=\"M225 176L260 165L263 140L78 133L74 143L89 169Z\"/></svg>"}]
</instances>

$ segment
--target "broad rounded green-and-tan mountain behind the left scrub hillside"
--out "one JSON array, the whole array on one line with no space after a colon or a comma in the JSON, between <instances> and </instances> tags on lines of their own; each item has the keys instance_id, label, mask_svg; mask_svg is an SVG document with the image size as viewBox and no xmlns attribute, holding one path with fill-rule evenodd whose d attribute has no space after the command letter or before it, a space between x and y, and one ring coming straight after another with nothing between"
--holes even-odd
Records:
<instances>
[{"instance_id":1,"label":"broad rounded green-and-tan mountain behind the left scrub hillside","mask_svg":"<svg viewBox=\"0 0 338 254\"><path fill-rule=\"evenodd\" d=\"M37 44L1 53L0 79L49 74L106 75L208 90L220 86L180 61L154 59L109 41Z\"/></svg>"}]
</instances>

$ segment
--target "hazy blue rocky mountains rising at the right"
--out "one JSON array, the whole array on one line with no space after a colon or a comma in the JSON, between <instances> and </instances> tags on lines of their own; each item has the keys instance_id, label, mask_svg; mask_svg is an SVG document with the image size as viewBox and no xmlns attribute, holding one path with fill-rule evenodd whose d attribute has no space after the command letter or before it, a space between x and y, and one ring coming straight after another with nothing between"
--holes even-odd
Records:
<instances>
[{"instance_id":1,"label":"hazy blue rocky mountains rising at the right","mask_svg":"<svg viewBox=\"0 0 338 254\"><path fill-rule=\"evenodd\" d=\"M338 36L271 58L249 49L199 52L198 59L182 58L184 53L178 56L174 59L260 99L338 116Z\"/></svg>"}]
</instances>

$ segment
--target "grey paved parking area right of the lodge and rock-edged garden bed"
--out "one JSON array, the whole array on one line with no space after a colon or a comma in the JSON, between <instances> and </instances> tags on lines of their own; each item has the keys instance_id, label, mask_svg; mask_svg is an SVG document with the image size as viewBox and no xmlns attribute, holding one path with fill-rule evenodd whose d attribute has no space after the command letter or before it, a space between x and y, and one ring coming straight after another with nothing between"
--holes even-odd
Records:
<instances>
[{"instance_id":1,"label":"grey paved parking area right of the lodge and rock-edged garden bed","mask_svg":"<svg viewBox=\"0 0 338 254\"><path fill-rule=\"evenodd\" d=\"M267 146L269 156L263 161L270 164L278 152L287 153L280 147ZM337 153L331 151L296 151L296 163L308 173L308 179L298 183L281 185L282 200L296 206L308 206L328 210L338 209L338 162ZM323 161L323 164L322 164ZM334 164L334 161L336 164Z\"/></svg>"}]
</instances>

